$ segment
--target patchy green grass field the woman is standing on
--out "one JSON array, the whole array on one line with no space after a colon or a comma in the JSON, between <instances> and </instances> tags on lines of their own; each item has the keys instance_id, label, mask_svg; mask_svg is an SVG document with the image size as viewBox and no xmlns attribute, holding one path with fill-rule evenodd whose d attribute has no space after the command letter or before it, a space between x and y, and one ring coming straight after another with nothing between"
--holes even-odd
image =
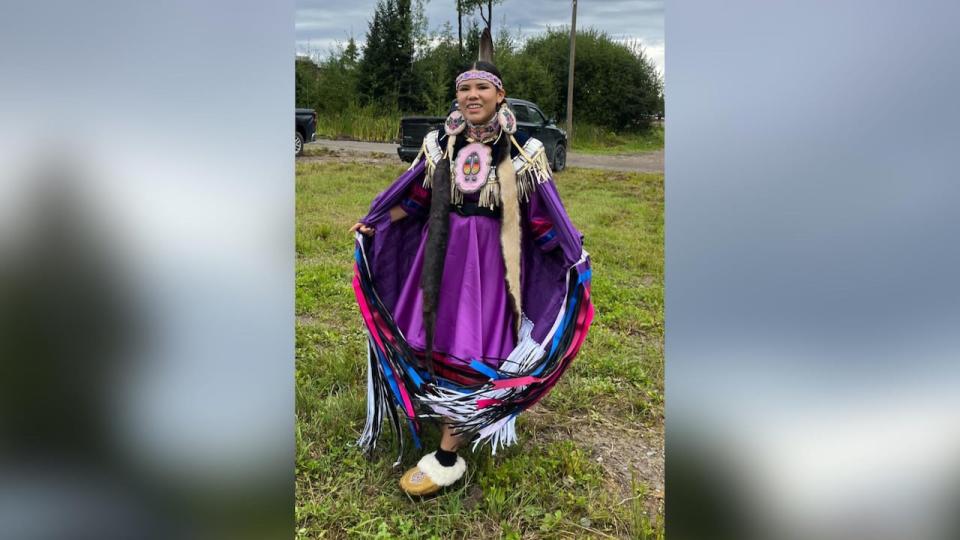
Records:
<instances>
[{"instance_id":1,"label":"patchy green grass field the woman is standing on","mask_svg":"<svg viewBox=\"0 0 960 540\"><path fill-rule=\"evenodd\" d=\"M636 472L617 478L604 447L639 453L635 434L663 426L663 176L557 176L592 255L591 333L564 380L519 418L518 445L465 452L464 482L414 501L397 485L420 456L409 442L397 469L389 430L372 461L353 446L366 375L347 229L402 170L297 164L297 537L662 538L662 515L644 502L655 486ZM426 431L429 448L437 433Z\"/></svg>"}]
</instances>

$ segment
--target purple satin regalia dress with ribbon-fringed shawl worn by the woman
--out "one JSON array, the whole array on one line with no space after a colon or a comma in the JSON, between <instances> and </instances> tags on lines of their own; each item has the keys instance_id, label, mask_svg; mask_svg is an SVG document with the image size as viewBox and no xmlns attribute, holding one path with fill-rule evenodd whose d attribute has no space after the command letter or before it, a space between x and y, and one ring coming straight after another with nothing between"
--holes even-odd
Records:
<instances>
[{"instance_id":1,"label":"purple satin regalia dress with ribbon-fringed shawl worn by the woman","mask_svg":"<svg viewBox=\"0 0 960 540\"><path fill-rule=\"evenodd\" d=\"M518 136L510 156L494 152L492 158L511 160L516 172L519 302L508 293L500 199L490 191L494 184L488 186L496 174L465 158L461 153L476 146L459 142L451 161L474 176L457 178L465 192L451 202L428 365L420 276L430 179L446 142L439 132L427 135L414 164L361 219L376 234L357 234L353 285L369 344L367 422L359 443L371 451L384 418L398 435L405 420L418 447L419 421L431 417L444 417L475 445L490 442L494 452L512 444L516 416L556 384L593 318L589 256L560 202L540 141ZM407 217L391 221L397 205ZM494 211L457 210L477 206Z\"/></svg>"}]
</instances>

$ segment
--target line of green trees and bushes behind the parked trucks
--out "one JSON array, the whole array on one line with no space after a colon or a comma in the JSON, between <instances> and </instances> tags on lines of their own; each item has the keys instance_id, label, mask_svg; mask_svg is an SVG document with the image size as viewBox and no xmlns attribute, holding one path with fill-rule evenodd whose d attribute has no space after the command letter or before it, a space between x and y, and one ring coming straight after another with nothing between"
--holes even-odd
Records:
<instances>
[{"instance_id":1,"label":"line of green trees and bushes behind the parked trucks","mask_svg":"<svg viewBox=\"0 0 960 540\"><path fill-rule=\"evenodd\" d=\"M450 23L427 35L426 1L379 0L362 51L351 37L326 60L298 58L297 106L335 113L374 104L388 111L445 115L456 94L453 81L476 59L483 27L477 18L469 19L460 32L460 54L460 36ZM460 4L468 2L474 2L473 7L482 3ZM493 3L481 6L486 17ZM547 115L562 118L569 40L567 28L548 30L525 43L501 28L496 64L508 95L532 100ZM578 29L576 59L575 121L629 131L644 128L662 113L663 81L639 42L613 41L603 32Z\"/></svg>"}]
</instances>

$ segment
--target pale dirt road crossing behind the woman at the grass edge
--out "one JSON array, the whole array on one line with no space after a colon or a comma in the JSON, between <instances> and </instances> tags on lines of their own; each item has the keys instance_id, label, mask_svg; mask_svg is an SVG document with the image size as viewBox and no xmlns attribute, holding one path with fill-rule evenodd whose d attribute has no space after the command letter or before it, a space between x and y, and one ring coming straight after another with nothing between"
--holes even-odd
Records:
<instances>
[{"instance_id":1,"label":"pale dirt road crossing behind the woman at the grass edge","mask_svg":"<svg viewBox=\"0 0 960 540\"><path fill-rule=\"evenodd\" d=\"M301 159L338 159L360 158L366 161L370 158L377 162L399 162L397 145L393 143L369 143L358 141L331 141L319 139L306 145L307 153L311 150L326 149L331 152L317 156L307 156ZM603 156L596 154L582 154L570 152L567 155L569 167L584 167L588 169L609 169L628 172L663 172L663 150L642 152L639 154L625 154Z\"/></svg>"}]
</instances>

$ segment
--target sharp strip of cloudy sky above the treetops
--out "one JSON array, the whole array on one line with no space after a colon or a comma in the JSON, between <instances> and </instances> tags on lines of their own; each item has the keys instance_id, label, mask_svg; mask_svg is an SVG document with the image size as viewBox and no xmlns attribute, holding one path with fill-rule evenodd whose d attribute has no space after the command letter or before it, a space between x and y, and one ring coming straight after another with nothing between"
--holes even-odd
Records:
<instances>
[{"instance_id":1,"label":"sharp strip of cloudy sky above the treetops","mask_svg":"<svg viewBox=\"0 0 960 540\"><path fill-rule=\"evenodd\" d=\"M367 23L377 0L296 0L297 52L319 52L326 56L337 41L353 35L362 43ZM530 36L548 26L570 24L570 0L506 0L493 7L494 33L504 17L511 32ZM454 0L428 0L430 29L450 21L456 32L457 12ZM478 19L479 21L479 19ZM622 41L639 41L647 55L663 73L663 0L579 0L577 28L593 27Z\"/></svg>"}]
</instances>

